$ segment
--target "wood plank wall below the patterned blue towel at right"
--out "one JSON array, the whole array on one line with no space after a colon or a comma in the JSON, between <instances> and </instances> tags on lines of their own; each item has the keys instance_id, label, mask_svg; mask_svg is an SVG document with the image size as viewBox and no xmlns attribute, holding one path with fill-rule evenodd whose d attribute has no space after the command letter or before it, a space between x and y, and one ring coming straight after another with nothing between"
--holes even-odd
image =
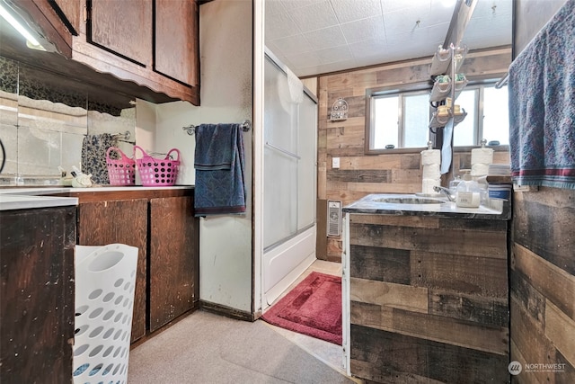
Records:
<instances>
[{"instance_id":1,"label":"wood plank wall below the patterned blue towel at right","mask_svg":"<svg viewBox=\"0 0 575 384\"><path fill-rule=\"evenodd\" d=\"M511 359L561 363L560 371L517 375L518 383L575 382L575 192L540 187L514 192L511 254ZM524 367L525 370L525 367Z\"/></svg>"}]
</instances>

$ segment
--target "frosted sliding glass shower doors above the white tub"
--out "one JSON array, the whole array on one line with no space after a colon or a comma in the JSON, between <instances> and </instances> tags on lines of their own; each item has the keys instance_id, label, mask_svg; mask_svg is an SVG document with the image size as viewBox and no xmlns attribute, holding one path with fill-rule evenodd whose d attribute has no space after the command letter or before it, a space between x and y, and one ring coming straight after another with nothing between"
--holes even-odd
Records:
<instances>
[{"instance_id":1,"label":"frosted sliding glass shower doors above the white tub","mask_svg":"<svg viewBox=\"0 0 575 384\"><path fill-rule=\"evenodd\" d=\"M316 103L293 101L288 76L266 57L264 248L315 222ZM291 91L293 92L293 91ZM304 93L303 89L300 92Z\"/></svg>"}]
</instances>

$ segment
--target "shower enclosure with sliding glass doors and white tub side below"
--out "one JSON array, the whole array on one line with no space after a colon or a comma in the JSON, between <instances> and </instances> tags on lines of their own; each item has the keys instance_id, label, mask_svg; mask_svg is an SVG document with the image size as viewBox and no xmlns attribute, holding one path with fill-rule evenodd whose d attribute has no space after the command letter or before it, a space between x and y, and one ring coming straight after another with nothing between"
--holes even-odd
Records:
<instances>
[{"instance_id":1,"label":"shower enclosure with sliding glass doors and white tub side below","mask_svg":"<svg viewBox=\"0 0 575 384\"><path fill-rule=\"evenodd\" d=\"M317 102L269 53L265 61L264 292L315 254Z\"/></svg>"}]
</instances>

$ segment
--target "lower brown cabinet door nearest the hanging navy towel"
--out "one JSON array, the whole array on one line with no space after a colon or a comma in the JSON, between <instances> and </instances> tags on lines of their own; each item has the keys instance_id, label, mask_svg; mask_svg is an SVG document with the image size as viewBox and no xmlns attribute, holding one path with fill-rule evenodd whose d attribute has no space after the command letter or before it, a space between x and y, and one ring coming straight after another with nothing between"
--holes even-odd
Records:
<instances>
[{"instance_id":1,"label":"lower brown cabinet door nearest the hanging navy towel","mask_svg":"<svg viewBox=\"0 0 575 384\"><path fill-rule=\"evenodd\" d=\"M199 225L192 197L150 200L150 332L199 299Z\"/></svg>"}]
</instances>

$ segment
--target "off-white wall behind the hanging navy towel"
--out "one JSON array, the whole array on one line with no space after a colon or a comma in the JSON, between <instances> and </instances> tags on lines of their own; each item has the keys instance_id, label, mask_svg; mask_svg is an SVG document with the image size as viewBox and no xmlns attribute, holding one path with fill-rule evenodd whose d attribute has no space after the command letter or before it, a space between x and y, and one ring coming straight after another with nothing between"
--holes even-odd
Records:
<instances>
[{"instance_id":1,"label":"off-white wall behind the hanging navy towel","mask_svg":"<svg viewBox=\"0 0 575 384\"><path fill-rule=\"evenodd\" d=\"M137 143L166 153L181 150L179 184L193 184L190 124L252 121L252 1L215 0L199 7L200 106L137 104ZM140 112L147 117L139 119ZM155 132L150 114L155 112ZM252 313L252 130L243 133L247 207L242 215L200 219L199 297ZM140 133L145 141L140 141ZM153 141L147 140L153 136ZM144 144L142 145L144 147Z\"/></svg>"}]
</instances>

